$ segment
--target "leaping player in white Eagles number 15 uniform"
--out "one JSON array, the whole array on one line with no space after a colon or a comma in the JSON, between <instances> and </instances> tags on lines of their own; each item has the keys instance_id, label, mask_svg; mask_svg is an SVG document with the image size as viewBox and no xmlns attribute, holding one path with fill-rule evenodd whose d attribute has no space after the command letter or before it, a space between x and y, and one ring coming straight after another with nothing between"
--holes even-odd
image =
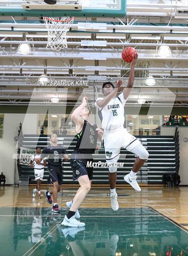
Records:
<instances>
[{"instance_id":1,"label":"leaping player in white Eagles number 15 uniform","mask_svg":"<svg viewBox=\"0 0 188 256\"><path fill-rule=\"evenodd\" d=\"M124 105L134 83L134 67L137 62L138 55L135 54L132 62L128 79L128 85L123 92L117 96L123 81L119 80L116 87L111 82L103 84L104 98L98 98L95 107L98 107L98 116L102 122L103 145L106 154L107 163L111 163L109 167L109 183L111 189L111 207L114 211L119 208L117 202L117 193L115 192L115 184L117 179L116 163L120 157L120 148L126 148L128 151L136 154L134 165L128 175L124 176L124 180L129 183L135 190L141 191L138 185L137 172L149 157L149 153L141 144L141 142L124 128Z\"/></svg>"}]
</instances>

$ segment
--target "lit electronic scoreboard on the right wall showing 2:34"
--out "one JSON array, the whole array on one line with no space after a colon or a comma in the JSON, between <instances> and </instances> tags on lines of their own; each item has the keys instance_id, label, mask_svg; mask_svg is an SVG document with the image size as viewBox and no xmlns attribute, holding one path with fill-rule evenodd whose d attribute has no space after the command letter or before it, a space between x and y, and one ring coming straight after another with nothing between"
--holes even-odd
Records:
<instances>
[{"instance_id":1,"label":"lit electronic scoreboard on the right wall showing 2:34","mask_svg":"<svg viewBox=\"0 0 188 256\"><path fill-rule=\"evenodd\" d=\"M188 127L188 115L163 115L163 127Z\"/></svg>"}]
</instances>

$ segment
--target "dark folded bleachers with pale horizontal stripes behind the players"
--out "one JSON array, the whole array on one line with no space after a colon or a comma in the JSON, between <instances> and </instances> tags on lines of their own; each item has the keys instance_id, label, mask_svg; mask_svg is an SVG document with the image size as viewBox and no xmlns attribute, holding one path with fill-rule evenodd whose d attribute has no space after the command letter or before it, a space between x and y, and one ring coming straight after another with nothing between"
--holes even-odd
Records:
<instances>
[{"instance_id":1,"label":"dark folded bleachers with pale horizontal stripes behind the players","mask_svg":"<svg viewBox=\"0 0 188 256\"><path fill-rule=\"evenodd\" d=\"M21 130L21 128L20 128ZM35 149L36 145L42 149L50 144L49 135L22 135L19 134L19 146ZM73 135L61 135L58 144L64 145L68 154L73 152L76 138ZM176 129L175 136L136 136L150 156L138 172L138 182L142 184L163 184L166 174L175 174L179 171L179 132ZM19 150L18 150L19 153ZM128 174L134 164L136 155L121 149L119 162L124 162L123 168L118 168L117 184L125 184L123 176ZM95 151L94 162L106 162L103 145ZM17 160L20 179L29 177L29 183L35 184L34 170L30 166L23 166ZM43 183L47 183L47 167L44 168ZM63 163L63 183L75 184L72 180L70 162ZM93 184L108 184L108 168L94 168Z\"/></svg>"}]
</instances>

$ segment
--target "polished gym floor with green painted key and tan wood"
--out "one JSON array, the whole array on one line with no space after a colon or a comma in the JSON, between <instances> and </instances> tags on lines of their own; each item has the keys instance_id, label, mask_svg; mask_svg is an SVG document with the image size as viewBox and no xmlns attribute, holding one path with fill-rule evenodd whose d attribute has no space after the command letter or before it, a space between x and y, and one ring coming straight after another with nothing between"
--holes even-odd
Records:
<instances>
[{"instance_id":1,"label":"polished gym floor with green painted key and tan wood","mask_svg":"<svg viewBox=\"0 0 188 256\"><path fill-rule=\"evenodd\" d=\"M117 189L116 212L109 190L92 188L80 209L84 228L61 226L76 189L58 194L60 214L46 198L33 199L32 189L0 186L1 256L188 255L188 187Z\"/></svg>"}]
</instances>

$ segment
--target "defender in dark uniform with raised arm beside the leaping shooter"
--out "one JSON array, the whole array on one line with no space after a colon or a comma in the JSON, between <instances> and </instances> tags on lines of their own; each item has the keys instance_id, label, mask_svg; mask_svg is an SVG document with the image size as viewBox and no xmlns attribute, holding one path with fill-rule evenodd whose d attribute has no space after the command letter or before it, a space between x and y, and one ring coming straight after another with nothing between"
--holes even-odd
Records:
<instances>
[{"instance_id":1,"label":"defender in dark uniform with raised arm beside the leaping shooter","mask_svg":"<svg viewBox=\"0 0 188 256\"><path fill-rule=\"evenodd\" d=\"M91 188L93 168L88 168L87 162L93 161L92 153L95 151L97 139L101 140L103 135L103 130L89 121L90 111L86 106L87 98L84 97L81 105L72 114L72 119L76 124L77 145L71 155L71 167L73 168L73 180L78 180L80 188L73 201L66 203L70 210L61 224L68 227L85 226L85 223L75 218L80 217L77 209Z\"/></svg>"}]
</instances>

